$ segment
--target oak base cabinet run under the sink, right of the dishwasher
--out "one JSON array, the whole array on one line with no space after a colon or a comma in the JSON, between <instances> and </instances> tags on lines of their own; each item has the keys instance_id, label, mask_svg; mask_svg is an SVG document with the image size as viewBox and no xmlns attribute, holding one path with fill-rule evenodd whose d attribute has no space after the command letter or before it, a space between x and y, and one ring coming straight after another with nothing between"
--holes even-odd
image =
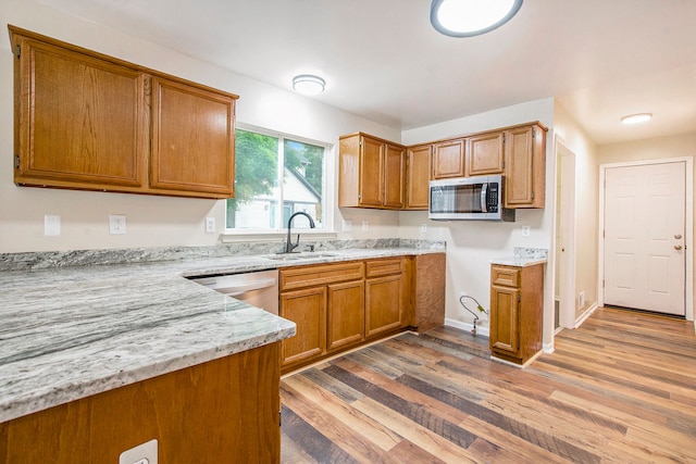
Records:
<instances>
[{"instance_id":1,"label":"oak base cabinet run under the sink, right of the dishwasher","mask_svg":"<svg viewBox=\"0 0 696 464\"><path fill-rule=\"evenodd\" d=\"M297 325L282 342L283 372L409 326L406 263L399 256L282 268L278 314Z\"/></svg>"}]
</instances>

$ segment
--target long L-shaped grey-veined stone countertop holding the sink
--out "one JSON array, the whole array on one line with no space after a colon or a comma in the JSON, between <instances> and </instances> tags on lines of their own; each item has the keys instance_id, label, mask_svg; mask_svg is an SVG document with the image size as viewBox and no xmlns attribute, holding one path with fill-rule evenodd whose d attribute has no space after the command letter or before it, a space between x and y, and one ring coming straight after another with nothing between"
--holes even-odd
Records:
<instances>
[{"instance_id":1,"label":"long L-shaped grey-veined stone countertop holding the sink","mask_svg":"<svg viewBox=\"0 0 696 464\"><path fill-rule=\"evenodd\" d=\"M185 277L444 252L322 242L279 261L277 246L0 254L0 422L295 335L294 323Z\"/></svg>"}]
</instances>

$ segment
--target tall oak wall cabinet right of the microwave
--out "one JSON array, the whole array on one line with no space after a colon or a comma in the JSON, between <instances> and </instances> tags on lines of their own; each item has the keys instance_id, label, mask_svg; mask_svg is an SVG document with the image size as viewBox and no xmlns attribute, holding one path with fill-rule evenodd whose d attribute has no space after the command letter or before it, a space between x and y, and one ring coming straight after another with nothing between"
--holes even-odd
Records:
<instances>
[{"instance_id":1,"label":"tall oak wall cabinet right of the microwave","mask_svg":"<svg viewBox=\"0 0 696 464\"><path fill-rule=\"evenodd\" d=\"M546 128L539 124L506 130L505 206L544 208Z\"/></svg>"}]
</instances>

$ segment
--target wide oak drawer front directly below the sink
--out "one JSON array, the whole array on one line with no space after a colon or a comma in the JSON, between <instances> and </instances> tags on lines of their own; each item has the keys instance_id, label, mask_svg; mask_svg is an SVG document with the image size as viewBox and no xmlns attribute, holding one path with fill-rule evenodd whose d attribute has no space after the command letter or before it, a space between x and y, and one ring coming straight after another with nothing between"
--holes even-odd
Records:
<instances>
[{"instance_id":1,"label":"wide oak drawer front directly below the sink","mask_svg":"<svg viewBox=\"0 0 696 464\"><path fill-rule=\"evenodd\" d=\"M358 261L288 267L281 269L281 291L338 281L358 280L361 279L363 275L364 264Z\"/></svg>"}]
</instances>

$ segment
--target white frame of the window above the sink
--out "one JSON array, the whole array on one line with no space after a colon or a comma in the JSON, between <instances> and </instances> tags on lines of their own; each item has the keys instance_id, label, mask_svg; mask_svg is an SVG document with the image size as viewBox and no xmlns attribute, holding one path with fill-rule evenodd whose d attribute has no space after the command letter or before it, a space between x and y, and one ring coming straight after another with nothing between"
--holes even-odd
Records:
<instances>
[{"instance_id":1,"label":"white frame of the window above the sink","mask_svg":"<svg viewBox=\"0 0 696 464\"><path fill-rule=\"evenodd\" d=\"M237 123L235 127L235 135L237 130L246 130L250 133L260 134L262 136L273 137L278 139L278 148L282 147L286 140L297 141L300 143L313 145L316 147L324 148L324 166L322 173L322 227L321 228L300 228L293 230L297 230L302 235L311 235L313 238L336 238L336 233L334 230L334 196L335 191L331 188L335 183L330 183L330 179L335 178L335 163L334 163L334 149L335 145L330 143L322 140L310 139L307 137L296 136L291 134L282 133L278 130L272 130L264 127L258 127L248 124ZM281 154L281 153L278 153ZM278 156L278 167L279 172L284 172L284 167L281 166L284 163L284 156ZM279 202L284 202L284 189L281 187L281 195L277 200ZM281 204L281 203L278 203ZM256 240L268 240L273 238L285 238L287 235L286 224L281 224L279 228L227 228L227 200L225 200L225 230L223 233L223 242L237 241L244 239L244 241L252 241ZM281 222L283 216L281 215Z\"/></svg>"}]
</instances>

